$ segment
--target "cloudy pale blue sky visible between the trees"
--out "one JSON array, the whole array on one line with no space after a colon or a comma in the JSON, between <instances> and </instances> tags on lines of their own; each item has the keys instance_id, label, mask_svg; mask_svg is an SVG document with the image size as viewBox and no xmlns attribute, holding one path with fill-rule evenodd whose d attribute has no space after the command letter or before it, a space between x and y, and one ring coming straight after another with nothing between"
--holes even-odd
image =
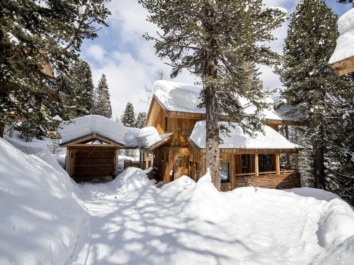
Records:
<instances>
[{"instance_id":1,"label":"cloudy pale blue sky visible between the trees","mask_svg":"<svg viewBox=\"0 0 354 265\"><path fill-rule=\"evenodd\" d=\"M299 0L263 2L266 6L286 8L289 16ZM350 5L338 4L335 0L327 0L326 3L339 16L351 8ZM171 67L164 64L167 60L161 61L155 55L154 42L142 37L145 32L155 33L159 29L146 21L148 12L137 0L112 0L107 8L112 12L107 19L109 27L99 30L96 39L85 40L80 56L89 63L95 85L102 73L107 76L113 118L123 114L127 102L133 104L136 113L147 111L148 104L141 101L147 101L149 96L145 86L152 86L151 80L157 71L164 70L168 76L171 73ZM282 53L289 22L287 20L282 27L274 30L273 34L278 40L270 43L273 51ZM271 68L261 66L260 71L264 89L282 87L279 77ZM188 71L183 71L172 81L194 84L195 77Z\"/></svg>"}]
</instances>

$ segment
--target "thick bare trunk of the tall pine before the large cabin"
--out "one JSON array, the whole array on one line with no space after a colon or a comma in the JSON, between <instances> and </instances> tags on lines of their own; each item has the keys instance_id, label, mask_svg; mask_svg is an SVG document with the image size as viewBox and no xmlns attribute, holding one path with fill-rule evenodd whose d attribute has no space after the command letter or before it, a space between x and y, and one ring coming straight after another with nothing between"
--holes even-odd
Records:
<instances>
[{"instance_id":1,"label":"thick bare trunk of the tall pine before the large cabin","mask_svg":"<svg viewBox=\"0 0 354 265\"><path fill-rule=\"evenodd\" d=\"M213 86L206 86L204 100L206 108L205 166L210 170L211 181L215 188L221 190L218 108Z\"/></svg>"}]
</instances>

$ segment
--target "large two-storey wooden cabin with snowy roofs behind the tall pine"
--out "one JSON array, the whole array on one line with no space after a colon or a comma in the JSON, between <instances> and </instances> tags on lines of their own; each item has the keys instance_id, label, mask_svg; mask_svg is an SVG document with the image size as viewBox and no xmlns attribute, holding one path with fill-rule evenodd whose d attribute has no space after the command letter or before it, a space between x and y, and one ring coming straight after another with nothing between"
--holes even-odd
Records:
<instances>
[{"instance_id":1,"label":"large two-storey wooden cabin with snowy roofs behind the tall pine","mask_svg":"<svg viewBox=\"0 0 354 265\"><path fill-rule=\"evenodd\" d=\"M164 182L183 175L198 179L205 174L205 109L198 108L201 87L171 81L157 81L150 97L145 126L160 135L169 134L158 146L141 148L152 154L152 166ZM272 99L269 99L272 100ZM242 99L239 101L242 103ZM245 102L246 104L247 102ZM286 108L286 105L283 107ZM303 125L300 116L287 117L280 110L264 110L265 135L255 139L235 125L230 137L220 135L222 190L242 186L293 188L300 186L297 154L303 148L278 133L279 125ZM248 106L245 114L254 112ZM228 126L225 122L224 125Z\"/></svg>"}]
</instances>

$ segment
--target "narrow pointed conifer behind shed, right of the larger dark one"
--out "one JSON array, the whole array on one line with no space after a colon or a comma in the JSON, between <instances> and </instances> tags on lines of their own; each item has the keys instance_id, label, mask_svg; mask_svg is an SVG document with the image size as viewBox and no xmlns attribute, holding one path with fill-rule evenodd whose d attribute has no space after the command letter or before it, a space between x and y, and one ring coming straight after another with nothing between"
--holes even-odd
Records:
<instances>
[{"instance_id":1,"label":"narrow pointed conifer behind shed, right of the larger dark one","mask_svg":"<svg viewBox=\"0 0 354 265\"><path fill-rule=\"evenodd\" d=\"M110 95L105 74L103 73L96 88L95 114L106 118L112 118L109 110L111 108Z\"/></svg>"}]
</instances>

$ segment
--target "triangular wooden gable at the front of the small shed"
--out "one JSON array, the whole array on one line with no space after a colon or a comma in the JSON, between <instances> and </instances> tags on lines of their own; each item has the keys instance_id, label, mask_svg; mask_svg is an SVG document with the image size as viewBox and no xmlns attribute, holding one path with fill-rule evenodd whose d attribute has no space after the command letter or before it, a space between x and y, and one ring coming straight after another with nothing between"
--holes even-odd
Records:
<instances>
[{"instance_id":1,"label":"triangular wooden gable at the front of the small shed","mask_svg":"<svg viewBox=\"0 0 354 265\"><path fill-rule=\"evenodd\" d=\"M95 140L102 141L105 144L99 145L99 144L87 143L87 142L90 142L90 141L92 142ZM92 146L92 145L94 145L96 147L98 147L98 146L104 146L104 147L115 146L118 148L124 148L124 145L122 143L116 142L112 139L108 139L107 137L97 134L97 133L96 134L88 134L85 136L78 137L76 139L61 143L59 146L63 148L63 147L68 147L68 146L82 146L82 147L84 147L84 146Z\"/></svg>"}]
</instances>

